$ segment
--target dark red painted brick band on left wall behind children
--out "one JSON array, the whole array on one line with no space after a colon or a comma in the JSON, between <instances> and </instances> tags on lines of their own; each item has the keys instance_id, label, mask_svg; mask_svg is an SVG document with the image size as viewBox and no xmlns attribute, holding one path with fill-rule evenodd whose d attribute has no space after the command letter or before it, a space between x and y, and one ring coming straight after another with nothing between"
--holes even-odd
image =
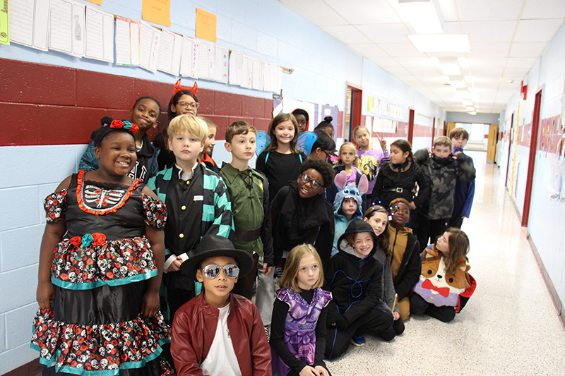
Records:
<instances>
[{"instance_id":1,"label":"dark red painted brick band on left wall behind children","mask_svg":"<svg viewBox=\"0 0 565 376\"><path fill-rule=\"evenodd\" d=\"M141 80L76 68L0 59L0 146L88 143L102 116L129 119L138 97L155 97L163 107L160 127L167 123L170 83ZM184 85L192 86L184 79ZM273 99L199 89L198 114L218 125L218 139L233 121L244 120L266 131ZM155 131L150 133L153 138Z\"/></svg>"}]
</instances>

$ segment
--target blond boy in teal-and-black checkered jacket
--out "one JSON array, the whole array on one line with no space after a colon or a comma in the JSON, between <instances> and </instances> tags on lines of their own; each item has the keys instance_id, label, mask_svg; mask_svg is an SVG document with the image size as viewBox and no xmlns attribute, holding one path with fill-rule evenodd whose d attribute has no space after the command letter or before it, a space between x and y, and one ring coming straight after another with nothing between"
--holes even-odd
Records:
<instances>
[{"instance_id":1,"label":"blond boy in teal-and-black checkered jacket","mask_svg":"<svg viewBox=\"0 0 565 376\"><path fill-rule=\"evenodd\" d=\"M232 205L225 183L198 162L208 133L208 126L197 116L181 115L172 119L167 135L175 164L159 171L148 182L169 212L161 303L168 320L199 292L194 279L179 272L189 250L196 249L205 235L229 238L233 232Z\"/></svg>"}]
</instances>

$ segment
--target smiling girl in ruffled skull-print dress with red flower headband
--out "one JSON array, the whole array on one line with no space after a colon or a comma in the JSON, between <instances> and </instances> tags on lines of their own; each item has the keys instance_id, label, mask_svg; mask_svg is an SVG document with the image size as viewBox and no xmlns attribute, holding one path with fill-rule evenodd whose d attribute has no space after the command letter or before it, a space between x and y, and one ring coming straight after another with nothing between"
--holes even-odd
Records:
<instances>
[{"instance_id":1,"label":"smiling girl in ruffled skull-print dress with red flower headband","mask_svg":"<svg viewBox=\"0 0 565 376\"><path fill-rule=\"evenodd\" d=\"M44 201L31 340L44 374L174 375L160 356L170 341L159 312L167 211L128 176L136 131L117 120L100 129L98 169L69 176Z\"/></svg>"}]
</instances>

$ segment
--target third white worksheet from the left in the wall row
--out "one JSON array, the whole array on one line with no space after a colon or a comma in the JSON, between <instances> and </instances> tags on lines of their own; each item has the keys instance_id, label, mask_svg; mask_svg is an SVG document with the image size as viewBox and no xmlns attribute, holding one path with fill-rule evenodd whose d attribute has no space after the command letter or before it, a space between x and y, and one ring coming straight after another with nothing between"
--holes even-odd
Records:
<instances>
[{"instance_id":1,"label":"third white worksheet from the left in the wall row","mask_svg":"<svg viewBox=\"0 0 565 376\"><path fill-rule=\"evenodd\" d=\"M114 62L114 15L86 6L85 57Z\"/></svg>"}]
</instances>

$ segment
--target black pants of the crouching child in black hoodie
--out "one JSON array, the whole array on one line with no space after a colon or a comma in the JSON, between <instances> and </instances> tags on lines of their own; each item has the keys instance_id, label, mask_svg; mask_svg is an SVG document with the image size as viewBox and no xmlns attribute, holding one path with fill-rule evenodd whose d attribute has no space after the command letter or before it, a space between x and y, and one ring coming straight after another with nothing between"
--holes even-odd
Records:
<instances>
[{"instance_id":1,"label":"black pants of the crouching child in black hoodie","mask_svg":"<svg viewBox=\"0 0 565 376\"><path fill-rule=\"evenodd\" d=\"M392 326L393 317L391 314L376 308L369 311L367 315L360 317L359 320L353 322L344 330L329 326L326 332L326 358L334 359L343 355L347 348L349 348L350 341L355 335L362 335L367 332L378 335L387 329L391 329Z\"/></svg>"}]
</instances>

